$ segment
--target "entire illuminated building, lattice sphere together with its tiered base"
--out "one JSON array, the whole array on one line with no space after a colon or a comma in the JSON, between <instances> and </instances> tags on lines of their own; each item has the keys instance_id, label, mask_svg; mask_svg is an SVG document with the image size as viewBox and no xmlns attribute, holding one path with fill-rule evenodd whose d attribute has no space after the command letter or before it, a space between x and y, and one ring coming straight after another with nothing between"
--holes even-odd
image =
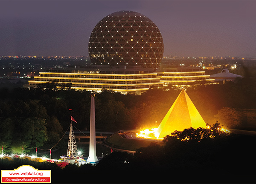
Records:
<instances>
[{"instance_id":1,"label":"entire illuminated building, lattice sphere together with its tiered base","mask_svg":"<svg viewBox=\"0 0 256 184\"><path fill-rule=\"evenodd\" d=\"M110 89L140 95L149 88L168 84L213 81L204 71L156 72L163 58L163 37L154 22L135 11L118 11L100 20L91 32L88 52L91 66L49 69L24 87L44 87L55 82L57 88Z\"/></svg>"}]
</instances>

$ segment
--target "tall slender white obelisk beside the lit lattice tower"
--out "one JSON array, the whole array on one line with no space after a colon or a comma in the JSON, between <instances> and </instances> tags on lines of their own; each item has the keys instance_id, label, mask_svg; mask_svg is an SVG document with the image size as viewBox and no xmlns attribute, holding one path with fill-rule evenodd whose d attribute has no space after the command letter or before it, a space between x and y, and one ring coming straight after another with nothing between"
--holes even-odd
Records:
<instances>
[{"instance_id":1,"label":"tall slender white obelisk beside the lit lattice tower","mask_svg":"<svg viewBox=\"0 0 256 184\"><path fill-rule=\"evenodd\" d=\"M90 112L90 147L89 157L87 162L96 164L99 162L96 156L96 131L95 131L95 109L94 109L94 97L95 94L91 94L91 112Z\"/></svg>"}]
</instances>

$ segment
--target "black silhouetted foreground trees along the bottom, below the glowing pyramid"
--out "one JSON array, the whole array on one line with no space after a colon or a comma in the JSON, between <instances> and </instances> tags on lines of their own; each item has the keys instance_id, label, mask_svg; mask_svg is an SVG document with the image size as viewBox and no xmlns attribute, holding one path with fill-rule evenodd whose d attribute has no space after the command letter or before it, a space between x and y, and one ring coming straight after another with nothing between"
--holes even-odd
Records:
<instances>
[{"instance_id":1,"label":"black silhouetted foreground trees along the bottom, below the glowing pyramid","mask_svg":"<svg viewBox=\"0 0 256 184\"><path fill-rule=\"evenodd\" d=\"M255 136L214 131L212 137L207 136L211 131L200 131L206 131L200 141L197 129L175 132L162 144L151 144L134 154L113 152L96 166L69 164L60 168L26 159L0 159L0 165L2 170L21 165L51 170L52 183L254 183ZM190 139L182 141L183 136Z\"/></svg>"}]
</instances>

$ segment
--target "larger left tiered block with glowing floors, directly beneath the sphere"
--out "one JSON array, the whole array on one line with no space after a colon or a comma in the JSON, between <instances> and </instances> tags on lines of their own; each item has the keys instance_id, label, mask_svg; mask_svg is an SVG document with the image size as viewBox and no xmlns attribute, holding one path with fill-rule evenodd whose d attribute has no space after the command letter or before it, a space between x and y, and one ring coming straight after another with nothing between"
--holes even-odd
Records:
<instances>
[{"instance_id":1,"label":"larger left tiered block with glowing floors, directly beneath the sphere","mask_svg":"<svg viewBox=\"0 0 256 184\"><path fill-rule=\"evenodd\" d=\"M49 82L55 82L57 88L63 87L63 84L71 84L72 89L99 91L112 89L123 94L138 95L149 88L163 87L157 73L153 73L152 69L137 69L136 67L111 69L110 67L101 66L79 70L40 72L40 76L35 76L34 80L30 80L26 87L45 86Z\"/></svg>"}]
</instances>

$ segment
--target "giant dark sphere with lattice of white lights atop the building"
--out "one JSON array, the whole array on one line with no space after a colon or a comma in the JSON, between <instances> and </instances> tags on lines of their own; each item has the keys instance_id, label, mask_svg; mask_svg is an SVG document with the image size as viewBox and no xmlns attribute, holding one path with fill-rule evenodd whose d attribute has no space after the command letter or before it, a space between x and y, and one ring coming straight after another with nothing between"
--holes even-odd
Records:
<instances>
[{"instance_id":1,"label":"giant dark sphere with lattice of white lights atop the building","mask_svg":"<svg viewBox=\"0 0 256 184\"><path fill-rule=\"evenodd\" d=\"M93 64L156 69L163 58L163 37L143 14L118 11L97 23L88 50Z\"/></svg>"}]
</instances>

